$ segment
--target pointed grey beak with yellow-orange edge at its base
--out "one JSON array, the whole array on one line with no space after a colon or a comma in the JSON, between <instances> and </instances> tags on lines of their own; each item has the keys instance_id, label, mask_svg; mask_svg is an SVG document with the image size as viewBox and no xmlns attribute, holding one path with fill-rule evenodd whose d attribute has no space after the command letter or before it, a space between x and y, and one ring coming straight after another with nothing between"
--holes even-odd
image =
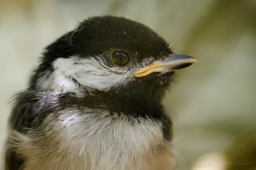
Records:
<instances>
[{"instance_id":1,"label":"pointed grey beak with yellow-orange edge at its base","mask_svg":"<svg viewBox=\"0 0 256 170\"><path fill-rule=\"evenodd\" d=\"M147 76L148 74L159 72L161 74L168 73L170 71L176 71L177 69L183 69L195 63L197 60L187 55L169 54L167 57L163 57L159 60L155 60L148 66L142 67L136 73L136 77Z\"/></svg>"}]
</instances>

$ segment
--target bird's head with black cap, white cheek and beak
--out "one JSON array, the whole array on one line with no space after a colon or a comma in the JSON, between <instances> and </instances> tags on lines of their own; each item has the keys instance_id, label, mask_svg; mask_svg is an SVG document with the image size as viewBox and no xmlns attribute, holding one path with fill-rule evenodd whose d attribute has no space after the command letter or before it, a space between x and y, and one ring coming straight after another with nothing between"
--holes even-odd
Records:
<instances>
[{"instance_id":1,"label":"bird's head with black cap, white cheek and beak","mask_svg":"<svg viewBox=\"0 0 256 170\"><path fill-rule=\"evenodd\" d=\"M174 54L143 24L93 17L47 46L29 89L154 103L163 97L175 71L195 61Z\"/></svg>"}]
</instances>

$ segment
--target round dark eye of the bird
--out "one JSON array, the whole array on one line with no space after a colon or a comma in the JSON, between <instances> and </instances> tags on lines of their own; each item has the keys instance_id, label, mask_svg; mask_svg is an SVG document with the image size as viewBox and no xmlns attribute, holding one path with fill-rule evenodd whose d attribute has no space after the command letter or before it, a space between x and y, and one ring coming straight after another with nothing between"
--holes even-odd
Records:
<instances>
[{"instance_id":1,"label":"round dark eye of the bird","mask_svg":"<svg viewBox=\"0 0 256 170\"><path fill-rule=\"evenodd\" d=\"M115 50L111 53L113 62L118 66L125 66L130 61L130 55L123 50Z\"/></svg>"}]
</instances>

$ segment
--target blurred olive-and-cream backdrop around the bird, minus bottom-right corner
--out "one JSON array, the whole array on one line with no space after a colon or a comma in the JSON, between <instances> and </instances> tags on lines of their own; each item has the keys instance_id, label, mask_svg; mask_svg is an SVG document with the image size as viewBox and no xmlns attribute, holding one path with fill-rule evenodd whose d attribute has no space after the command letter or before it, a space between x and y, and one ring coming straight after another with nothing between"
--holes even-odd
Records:
<instances>
[{"instance_id":1,"label":"blurred olive-and-cream backdrop around the bird, minus bottom-right corner","mask_svg":"<svg viewBox=\"0 0 256 170\"><path fill-rule=\"evenodd\" d=\"M98 15L148 25L175 53L198 59L179 72L164 100L174 121L177 169L191 169L202 155L256 128L256 1L0 0L1 148L8 103L26 88L44 47Z\"/></svg>"}]
</instances>

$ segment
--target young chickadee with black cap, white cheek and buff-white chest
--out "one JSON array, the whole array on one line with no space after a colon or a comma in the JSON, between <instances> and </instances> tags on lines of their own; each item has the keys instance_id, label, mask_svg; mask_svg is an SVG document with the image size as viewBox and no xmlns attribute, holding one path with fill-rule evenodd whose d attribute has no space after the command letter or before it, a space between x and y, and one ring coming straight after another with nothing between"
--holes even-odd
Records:
<instances>
[{"instance_id":1,"label":"young chickadee with black cap, white cheek and buff-white chest","mask_svg":"<svg viewBox=\"0 0 256 170\"><path fill-rule=\"evenodd\" d=\"M195 63L149 27L90 17L47 46L13 99L5 170L167 170L172 119L162 101Z\"/></svg>"}]
</instances>

